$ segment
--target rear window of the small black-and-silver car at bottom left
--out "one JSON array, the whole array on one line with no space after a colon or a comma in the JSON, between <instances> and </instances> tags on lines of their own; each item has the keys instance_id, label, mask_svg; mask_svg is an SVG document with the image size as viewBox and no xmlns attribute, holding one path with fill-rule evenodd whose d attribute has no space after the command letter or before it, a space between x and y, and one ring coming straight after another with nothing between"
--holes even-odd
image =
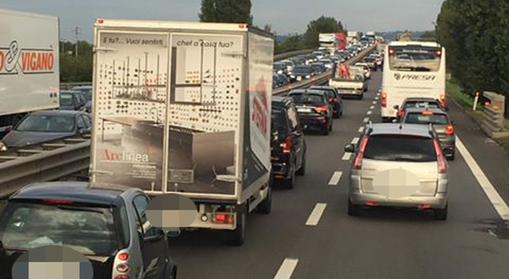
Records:
<instances>
[{"instance_id":1,"label":"rear window of the small black-and-silver car at bottom left","mask_svg":"<svg viewBox=\"0 0 509 279\"><path fill-rule=\"evenodd\" d=\"M85 255L112 255L119 244L109 208L11 203L0 224L4 249L66 246Z\"/></svg>"}]
</instances>

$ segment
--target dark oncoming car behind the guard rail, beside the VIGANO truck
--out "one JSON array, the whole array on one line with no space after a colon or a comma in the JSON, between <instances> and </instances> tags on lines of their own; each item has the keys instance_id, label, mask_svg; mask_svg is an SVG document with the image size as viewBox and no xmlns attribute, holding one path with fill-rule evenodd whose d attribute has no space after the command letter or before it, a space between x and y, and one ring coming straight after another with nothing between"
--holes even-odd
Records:
<instances>
[{"instance_id":1,"label":"dark oncoming car behind the guard rail, beside the VIGANO truck","mask_svg":"<svg viewBox=\"0 0 509 279\"><path fill-rule=\"evenodd\" d=\"M90 133L92 119L82 111L36 111L28 114L2 139L6 149Z\"/></svg>"}]
</instances>

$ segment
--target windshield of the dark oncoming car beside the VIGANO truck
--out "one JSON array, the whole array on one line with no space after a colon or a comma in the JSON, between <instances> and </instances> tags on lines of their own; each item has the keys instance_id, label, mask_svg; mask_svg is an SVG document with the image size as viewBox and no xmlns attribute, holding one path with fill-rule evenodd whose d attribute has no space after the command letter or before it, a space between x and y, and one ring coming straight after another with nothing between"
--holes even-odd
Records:
<instances>
[{"instance_id":1,"label":"windshield of the dark oncoming car beside the VIGANO truck","mask_svg":"<svg viewBox=\"0 0 509 279\"><path fill-rule=\"evenodd\" d=\"M20 132L73 132L74 116L31 115L25 118L15 129Z\"/></svg>"}]
</instances>

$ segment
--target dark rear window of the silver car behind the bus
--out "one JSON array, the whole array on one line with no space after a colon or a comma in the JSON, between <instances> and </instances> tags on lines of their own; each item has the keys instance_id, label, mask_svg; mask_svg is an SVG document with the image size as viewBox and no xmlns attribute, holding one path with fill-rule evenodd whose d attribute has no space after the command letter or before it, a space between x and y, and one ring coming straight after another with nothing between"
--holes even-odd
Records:
<instances>
[{"instance_id":1,"label":"dark rear window of the silver car behind the bus","mask_svg":"<svg viewBox=\"0 0 509 279\"><path fill-rule=\"evenodd\" d=\"M380 161L437 161L433 139L406 135L372 135L364 158Z\"/></svg>"}]
</instances>

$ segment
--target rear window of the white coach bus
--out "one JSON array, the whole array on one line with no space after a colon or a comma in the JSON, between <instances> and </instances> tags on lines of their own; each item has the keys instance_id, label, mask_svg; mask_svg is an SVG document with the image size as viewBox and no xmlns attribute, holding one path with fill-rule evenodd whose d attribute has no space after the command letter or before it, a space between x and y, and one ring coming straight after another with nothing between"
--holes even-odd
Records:
<instances>
[{"instance_id":1,"label":"rear window of the white coach bus","mask_svg":"<svg viewBox=\"0 0 509 279\"><path fill-rule=\"evenodd\" d=\"M441 48L422 46L391 46L391 71L438 72L442 59Z\"/></svg>"}]
</instances>

